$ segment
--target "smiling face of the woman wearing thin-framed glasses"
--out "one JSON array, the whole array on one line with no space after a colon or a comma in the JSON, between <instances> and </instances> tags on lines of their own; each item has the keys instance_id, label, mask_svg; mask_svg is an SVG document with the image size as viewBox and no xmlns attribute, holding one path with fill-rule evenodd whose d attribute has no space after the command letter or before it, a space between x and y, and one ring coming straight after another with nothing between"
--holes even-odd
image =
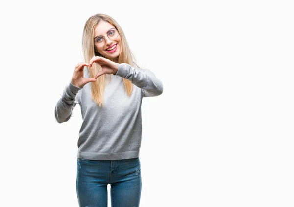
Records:
<instances>
[{"instance_id":1,"label":"smiling face of the woman wearing thin-framed glasses","mask_svg":"<svg viewBox=\"0 0 294 207\"><path fill-rule=\"evenodd\" d=\"M113 33L111 33L111 30L116 29L110 23L101 20L94 28L94 47L96 48L96 51L98 51L103 57L113 62L118 62L122 43L121 36L118 34L117 37L112 37L111 35ZM107 36L107 34L110 38ZM101 42L101 40L103 41ZM113 49L110 51L106 50L110 48Z\"/></svg>"}]
</instances>

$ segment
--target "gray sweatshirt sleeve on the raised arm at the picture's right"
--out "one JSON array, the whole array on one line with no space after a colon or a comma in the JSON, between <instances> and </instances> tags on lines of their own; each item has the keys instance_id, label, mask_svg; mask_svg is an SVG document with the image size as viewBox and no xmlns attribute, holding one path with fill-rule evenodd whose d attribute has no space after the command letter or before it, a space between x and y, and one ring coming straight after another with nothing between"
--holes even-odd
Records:
<instances>
[{"instance_id":1,"label":"gray sweatshirt sleeve on the raised arm at the picture's right","mask_svg":"<svg viewBox=\"0 0 294 207\"><path fill-rule=\"evenodd\" d=\"M163 93L163 83L149 69L134 68L127 63L121 63L115 75L128 79L141 88L143 97L158 96Z\"/></svg>"}]
</instances>

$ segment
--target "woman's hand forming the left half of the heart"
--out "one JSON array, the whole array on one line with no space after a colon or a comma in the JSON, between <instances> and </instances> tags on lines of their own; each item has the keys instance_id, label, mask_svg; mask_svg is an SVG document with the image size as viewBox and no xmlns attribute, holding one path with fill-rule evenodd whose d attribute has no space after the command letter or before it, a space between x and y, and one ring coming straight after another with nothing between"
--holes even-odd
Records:
<instances>
[{"instance_id":1,"label":"woman's hand forming the left half of the heart","mask_svg":"<svg viewBox=\"0 0 294 207\"><path fill-rule=\"evenodd\" d=\"M84 66L89 67L90 64L81 62L75 66L73 78L71 80L71 83L79 88L84 87L84 85L86 85L89 82L96 81L95 78L84 78Z\"/></svg>"}]
</instances>

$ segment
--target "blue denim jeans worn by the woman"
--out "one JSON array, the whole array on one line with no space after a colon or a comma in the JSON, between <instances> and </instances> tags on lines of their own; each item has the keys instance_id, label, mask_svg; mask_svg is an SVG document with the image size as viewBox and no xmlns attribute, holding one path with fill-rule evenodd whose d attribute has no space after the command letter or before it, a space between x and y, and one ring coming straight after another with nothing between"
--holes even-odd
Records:
<instances>
[{"instance_id":1,"label":"blue denim jeans worn by the woman","mask_svg":"<svg viewBox=\"0 0 294 207\"><path fill-rule=\"evenodd\" d=\"M139 157L121 160L77 158L76 193L80 207L107 207L107 185L111 207L139 207L141 169Z\"/></svg>"}]
</instances>

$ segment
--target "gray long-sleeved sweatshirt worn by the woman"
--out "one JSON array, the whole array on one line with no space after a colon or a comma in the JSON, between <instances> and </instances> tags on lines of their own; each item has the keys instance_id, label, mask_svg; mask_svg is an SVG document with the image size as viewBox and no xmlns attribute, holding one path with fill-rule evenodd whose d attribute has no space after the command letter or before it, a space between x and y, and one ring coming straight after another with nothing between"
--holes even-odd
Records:
<instances>
[{"instance_id":1,"label":"gray long-sleeved sweatshirt worn by the woman","mask_svg":"<svg viewBox=\"0 0 294 207\"><path fill-rule=\"evenodd\" d=\"M104 90L104 106L92 100L91 83L79 88L69 83L55 106L58 123L67 122L76 104L80 105L82 125L77 142L77 157L92 160L116 160L139 157L142 140L141 104L143 97L163 92L161 80L148 69L121 63ZM84 77L89 78L84 67ZM123 78L133 83L129 97L124 92Z\"/></svg>"}]
</instances>

